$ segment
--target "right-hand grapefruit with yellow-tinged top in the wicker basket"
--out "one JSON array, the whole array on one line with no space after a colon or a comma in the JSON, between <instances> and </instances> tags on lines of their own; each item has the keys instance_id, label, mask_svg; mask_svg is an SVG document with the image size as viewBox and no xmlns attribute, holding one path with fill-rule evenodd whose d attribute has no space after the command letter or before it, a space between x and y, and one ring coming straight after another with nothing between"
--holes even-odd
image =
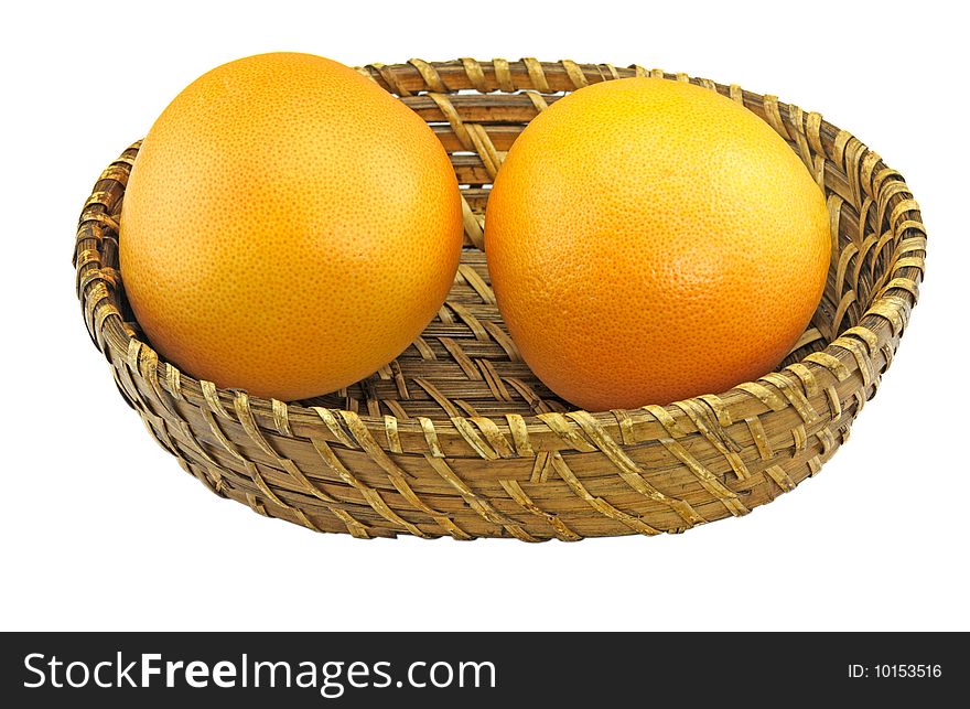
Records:
<instances>
[{"instance_id":1,"label":"right-hand grapefruit with yellow-tinged top in the wicker basket","mask_svg":"<svg viewBox=\"0 0 970 709\"><path fill-rule=\"evenodd\" d=\"M772 370L821 298L824 197L796 153L687 83L594 84L537 116L485 218L526 363L590 410L720 393Z\"/></svg>"}]
</instances>

